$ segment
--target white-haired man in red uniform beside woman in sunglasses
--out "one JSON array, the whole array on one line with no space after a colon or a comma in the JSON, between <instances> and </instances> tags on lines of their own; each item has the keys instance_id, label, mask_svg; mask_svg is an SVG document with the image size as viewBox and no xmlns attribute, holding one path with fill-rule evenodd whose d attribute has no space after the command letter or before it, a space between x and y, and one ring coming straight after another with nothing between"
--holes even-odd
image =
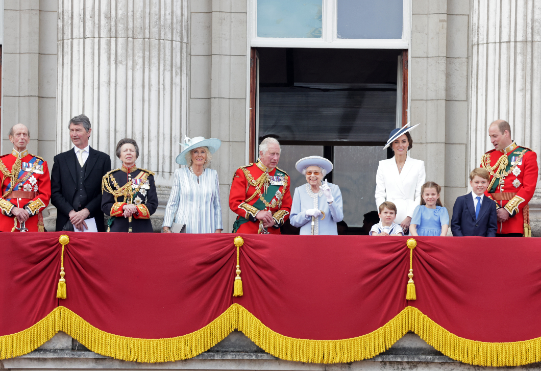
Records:
<instances>
[{"instance_id":1,"label":"white-haired man in red uniform beside woman in sunglasses","mask_svg":"<svg viewBox=\"0 0 541 371\"><path fill-rule=\"evenodd\" d=\"M255 164L242 166L233 176L229 208L237 216L233 233L280 234L291 211L289 176L277 168L280 143L266 138Z\"/></svg>"}]
</instances>

